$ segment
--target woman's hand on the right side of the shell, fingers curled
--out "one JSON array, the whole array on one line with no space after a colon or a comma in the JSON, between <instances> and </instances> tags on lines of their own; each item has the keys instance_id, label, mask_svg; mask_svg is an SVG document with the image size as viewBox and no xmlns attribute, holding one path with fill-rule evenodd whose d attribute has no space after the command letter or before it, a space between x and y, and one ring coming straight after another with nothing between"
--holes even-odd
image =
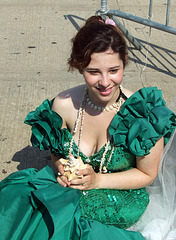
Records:
<instances>
[{"instance_id":1,"label":"woman's hand on the right side of the shell, fingers curled","mask_svg":"<svg viewBox=\"0 0 176 240\"><path fill-rule=\"evenodd\" d=\"M98 188L99 174L95 173L92 166L86 164L86 168L78 170L76 174L83 175L82 178L70 181L69 187L79 190L90 190Z\"/></svg>"}]
</instances>

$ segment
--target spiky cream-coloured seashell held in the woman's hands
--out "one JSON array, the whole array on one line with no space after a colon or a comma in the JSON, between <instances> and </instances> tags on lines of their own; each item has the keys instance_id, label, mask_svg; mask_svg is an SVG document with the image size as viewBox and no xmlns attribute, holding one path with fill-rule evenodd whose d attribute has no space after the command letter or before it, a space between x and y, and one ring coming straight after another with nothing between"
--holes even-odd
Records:
<instances>
[{"instance_id":1,"label":"spiky cream-coloured seashell held in the woman's hands","mask_svg":"<svg viewBox=\"0 0 176 240\"><path fill-rule=\"evenodd\" d=\"M64 165L64 175L68 178L68 181L82 178L83 175L77 175L76 171L86 168L86 165L83 163L81 157L74 158L73 155L69 157L69 160L64 158L60 159L60 162Z\"/></svg>"}]
</instances>

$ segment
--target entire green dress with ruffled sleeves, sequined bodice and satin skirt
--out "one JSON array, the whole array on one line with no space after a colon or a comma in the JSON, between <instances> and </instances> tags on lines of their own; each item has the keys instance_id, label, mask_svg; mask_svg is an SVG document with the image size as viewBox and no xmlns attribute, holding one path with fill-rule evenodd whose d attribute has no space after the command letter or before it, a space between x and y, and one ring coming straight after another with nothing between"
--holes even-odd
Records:
<instances>
[{"instance_id":1,"label":"entire green dress with ruffled sleeves, sequined bodice and satin skirt","mask_svg":"<svg viewBox=\"0 0 176 240\"><path fill-rule=\"evenodd\" d=\"M50 149L56 156L68 158L72 139L68 129L61 129L62 118L45 100L30 112L25 123L32 126L31 142L40 150ZM113 155L108 172L135 167L135 156L149 154L156 141L165 143L176 127L175 114L165 107L157 88L143 88L128 98L110 126ZM85 163L98 172L103 146L91 157L81 151ZM73 154L78 147L73 143ZM51 168L30 168L12 173L0 183L0 226L2 240L142 240L139 232L128 231L142 216L149 203L145 188L80 191L64 188Z\"/></svg>"}]
</instances>

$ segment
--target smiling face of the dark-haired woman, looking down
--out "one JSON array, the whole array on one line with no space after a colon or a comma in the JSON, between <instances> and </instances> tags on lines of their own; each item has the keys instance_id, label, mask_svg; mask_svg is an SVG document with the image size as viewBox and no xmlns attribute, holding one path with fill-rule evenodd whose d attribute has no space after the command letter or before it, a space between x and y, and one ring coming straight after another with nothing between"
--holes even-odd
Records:
<instances>
[{"instance_id":1,"label":"smiling face of the dark-haired woman, looking down","mask_svg":"<svg viewBox=\"0 0 176 240\"><path fill-rule=\"evenodd\" d=\"M97 105L114 103L119 94L123 73L123 62L112 49L93 53L89 65L83 71L90 99Z\"/></svg>"}]
</instances>

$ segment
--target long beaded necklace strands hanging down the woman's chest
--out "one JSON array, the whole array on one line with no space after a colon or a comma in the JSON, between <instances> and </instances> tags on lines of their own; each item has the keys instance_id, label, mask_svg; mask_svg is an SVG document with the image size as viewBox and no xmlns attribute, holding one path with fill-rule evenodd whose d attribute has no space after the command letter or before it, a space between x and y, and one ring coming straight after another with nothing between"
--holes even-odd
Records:
<instances>
[{"instance_id":1,"label":"long beaded necklace strands hanging down the woman's chest","mask_svg":"<svg viewBox=\"0 0 176 240\"><path fill-rule=\"evenodd\" d=\"M76 121L75 121L75 125L74 125L74 129L73 129L73 134L72 134L72 139L70 141L70 147L69 147L69 156L72 155L72 148L73 148L73 141L74 141L74 135L76 134L77 130L78 130L78 125L79 125L79 122L80 123L80 129L79 129L79 134L78 134L78 151L77 151L77 157L79 156L79 152L80 152L80 142L81 142L81 137L82 137L82 132L83 132L83 123L84 123L84 114L85 114L85 107L86 107L86 102L87 102L87 97L88 97L88 92L87 92L87 88L85 89L85 93L84 93L84 96L83 96L83 99L81 101L81 104L80 104L80 108L78 110L78 114L77 114L77 118L76 118ZM120 89L120 94L119 94L119 97L116 101L116 111L119 111L122 104L124 103L124 94L122 93L121 89ZM113 107L114 108L114 107ZM112 109L113 109L112 108ZM109 149L109 146L110 146L110 139L108 139L108 142L105 146L105 150L103 152L103 156L102 156L102 159L101 159L101 162L100 162L100 167L99 167L99 173L107 173L107 166L112 158L112 155L113 155L113 152L114 152L114 146L111 150L111 154L108 158L108 161L107 161L107 164L106 166L103 166L104 164L104 161L105 161L105 158L106 158L106 154L108 152L108 149ZM88 162L88 161L87 161Z\"/></svg>"}]
</instances>

